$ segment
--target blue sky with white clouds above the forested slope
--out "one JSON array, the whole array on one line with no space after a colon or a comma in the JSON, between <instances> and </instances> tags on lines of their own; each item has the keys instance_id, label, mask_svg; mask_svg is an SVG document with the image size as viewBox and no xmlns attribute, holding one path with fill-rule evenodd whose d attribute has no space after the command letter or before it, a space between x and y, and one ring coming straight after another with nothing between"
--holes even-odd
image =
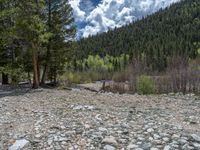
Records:
<instances>
[{"instance_id":1,"label":"blue sky with white clouds above the forested slope","mask_svg":"<svg viewBox=\"0 0 200 150\"><path fill-rule=\"evenodd\" d=\"M88 37L129 24L179 0L69 0L78 28Z\"/></svg>"}]
</instances>

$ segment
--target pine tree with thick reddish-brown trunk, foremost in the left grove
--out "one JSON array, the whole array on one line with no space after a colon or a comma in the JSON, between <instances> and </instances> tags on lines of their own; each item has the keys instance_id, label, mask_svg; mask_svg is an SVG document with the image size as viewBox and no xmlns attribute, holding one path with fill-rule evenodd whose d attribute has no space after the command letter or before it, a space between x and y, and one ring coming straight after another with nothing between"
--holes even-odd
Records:
<instances>
[{"instance_id":1,"label":"pine tree with thick reddish-brown trunk, foremost in the left grove","mask_svg":"<svg viewBox=\"0 0 200 150\"><path fill-rule=\"evenodd\" d=\"M15 31L19 39L27 43L31 51L33 67L33 88L39 87L38 51L42 43L46 42L49 34L46 31L42 12L43 0L19 0L17 2Z\"/></svg>"}]
</instances>

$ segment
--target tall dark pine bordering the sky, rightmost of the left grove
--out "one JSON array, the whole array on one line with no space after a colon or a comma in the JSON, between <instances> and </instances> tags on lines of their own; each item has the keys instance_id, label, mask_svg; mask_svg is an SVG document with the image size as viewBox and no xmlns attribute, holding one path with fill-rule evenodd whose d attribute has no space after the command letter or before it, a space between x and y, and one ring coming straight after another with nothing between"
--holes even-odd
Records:
<instances>
[{"instance_id":1,"label":"tall dark pine bordering the sky, rightmost of the left grove","mask_svg":"<svg viewBox=\"0 0 200 150\"><path fill-rule=\"evenodd\" d=\"M72 8L66 0L46 1L46 20L51 37L47 43L46 60L41 83L44 84L48 68L51 70L56 83L56 76L62 70L68 55L69 43L74 39Z\"/></svg>"}]
</instances>

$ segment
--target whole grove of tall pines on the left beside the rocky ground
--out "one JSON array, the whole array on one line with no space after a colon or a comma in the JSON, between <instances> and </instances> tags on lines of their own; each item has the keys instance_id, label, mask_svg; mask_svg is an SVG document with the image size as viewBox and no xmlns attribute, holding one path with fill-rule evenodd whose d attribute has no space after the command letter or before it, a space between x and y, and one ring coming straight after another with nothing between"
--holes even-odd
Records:
<instances>
[{"instance_id":1,"label":"whole grove of tall pines on the left beside the rocky ground","mask_svg":"<svg viewBox=\"0 0 200 150\"><path fill-rule=\"evenodd\" d=\"M2 83L28 79L38 88L47 77L56 83L76 33L71 6L65 0L1 0L0 7Z\"/></svg>"}]
</instances>

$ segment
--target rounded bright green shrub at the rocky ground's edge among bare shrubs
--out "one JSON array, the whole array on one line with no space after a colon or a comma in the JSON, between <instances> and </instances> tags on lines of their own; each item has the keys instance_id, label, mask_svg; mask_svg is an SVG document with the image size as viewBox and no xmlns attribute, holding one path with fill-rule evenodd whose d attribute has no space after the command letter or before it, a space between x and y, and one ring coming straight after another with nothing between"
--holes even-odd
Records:
<instances>
[{"instance_id":1,"label":"rounded bright green shrub at the rocky ground's edge among bare shrubs","mask_svg":"<svg viewBox=\"0 0 200 150\"><path fill-rule=\"evenodd\" d=\"M137 79L136 89L138 94L155 94L156 86L154 80L149 76L142 75Z\"/></svg>"}]
</instances>

